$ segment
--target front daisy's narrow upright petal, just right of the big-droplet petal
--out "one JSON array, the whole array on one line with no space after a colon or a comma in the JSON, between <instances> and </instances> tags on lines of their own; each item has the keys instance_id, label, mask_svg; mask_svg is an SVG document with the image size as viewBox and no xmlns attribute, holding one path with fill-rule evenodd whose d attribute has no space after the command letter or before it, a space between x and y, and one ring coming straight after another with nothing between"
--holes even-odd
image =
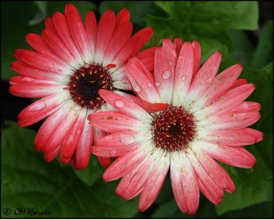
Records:
<instances>
[{"instance_id":1,"label":"front daisy's narrow upright petal, just right of the big-droplet petal","mask_svg":"<svg viewBox=\"0 0 274 219\"><path fill-rule=\"evenodd\" d=\"M173 105L182 105L188 92L193 73L193 49L190 42L184 42L179 53L173 87Z\"/></svg>"}]
</instances>

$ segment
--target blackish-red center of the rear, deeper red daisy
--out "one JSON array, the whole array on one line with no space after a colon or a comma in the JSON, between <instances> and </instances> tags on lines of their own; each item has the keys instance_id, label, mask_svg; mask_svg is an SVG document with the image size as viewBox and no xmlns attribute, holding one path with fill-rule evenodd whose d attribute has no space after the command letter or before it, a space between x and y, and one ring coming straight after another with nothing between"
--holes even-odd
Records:
<instances>
[{"instance_id":1,"label":"blackish-red center of the rear, deeper red daisy","mask_svg":"<svg viewBox=\"0 0 274 219\"><path fill-rule=\"evenodd\" d=\"M113 90L108 69L114 66L110 64L103 68L99 64L88 64L76 70L69 82L71 97L75 103L90 110L101 107L103 99L98 90Z\"/></svg>"}]
</instances>

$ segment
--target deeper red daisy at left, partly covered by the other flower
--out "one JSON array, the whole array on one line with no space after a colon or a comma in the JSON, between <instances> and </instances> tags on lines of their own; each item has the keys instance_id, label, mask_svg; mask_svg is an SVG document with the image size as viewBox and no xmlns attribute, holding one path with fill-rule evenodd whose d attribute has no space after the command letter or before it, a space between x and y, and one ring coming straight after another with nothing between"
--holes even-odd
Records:
<instances>
[{"instance_id":1,"label":"deeper red daisy at left, partly covered by the other flower","mask_svg":"<svg viewBox=\"0 0 274 219\"><path fill-rule=\"evenodd\" d=\"M149 27L132 35L129 11L121 10L115 17L108 10L98 25L93 12L82 18L72 4L64 15L55 12L45 21L42 36L27 34L34 49L18 49L18 61L11 68L21 75L10 79L10 92L16 96L41 98L18 115L18 125L25 127L49 116L40 127L34 144L50 162L60 152L63 164L71 162L77 169L86 168L92 141L105 132L93 129L86 119L96 111L112 110L98 94L99 89L132 90L125 76L125 63L141 49L153 34ZM138 57L151 60L142 51ZM153 60L152 60L153 61ZM103 166L110 158L98 157Z\"/></svg>"}]
</instances>

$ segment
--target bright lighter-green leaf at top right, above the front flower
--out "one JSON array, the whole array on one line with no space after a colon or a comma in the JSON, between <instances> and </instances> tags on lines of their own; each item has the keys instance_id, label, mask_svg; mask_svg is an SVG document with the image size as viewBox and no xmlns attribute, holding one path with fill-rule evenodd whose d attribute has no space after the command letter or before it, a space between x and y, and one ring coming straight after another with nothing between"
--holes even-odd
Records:
<instances>
[{"instance_id":1,"label":"bright lighter-green leaf at top right, above the front flower","mask_svg":"<svg viewBox=\"0 0 274 219\"><path fill-rule=\"evenodd\" d=\"M227 29L258 28L258 3L252 1L156 1L169 18L149 15L155 36L177 37L195 33L230 44Z\"/></svg>"}]
</instances>

